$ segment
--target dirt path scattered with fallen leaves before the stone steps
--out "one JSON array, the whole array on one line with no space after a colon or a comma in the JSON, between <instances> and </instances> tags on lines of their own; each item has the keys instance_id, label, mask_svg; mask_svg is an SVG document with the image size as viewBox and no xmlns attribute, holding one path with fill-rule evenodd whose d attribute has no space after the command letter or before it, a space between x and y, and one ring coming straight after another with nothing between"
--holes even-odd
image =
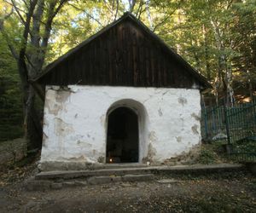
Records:
<instances>
[{"instance_id":1,"label":"dirt path scattered with fallen leaves before the stone steps","mask_svg":"<svg viewBox=\"0 0 256 213\"><path fill-rule=\"evenodd\" d=\"M22 182L14 182L0 189L0 212L256 212L253 176L176 180L47 192L27 192Z\"/></svg>"}]
</instances>

